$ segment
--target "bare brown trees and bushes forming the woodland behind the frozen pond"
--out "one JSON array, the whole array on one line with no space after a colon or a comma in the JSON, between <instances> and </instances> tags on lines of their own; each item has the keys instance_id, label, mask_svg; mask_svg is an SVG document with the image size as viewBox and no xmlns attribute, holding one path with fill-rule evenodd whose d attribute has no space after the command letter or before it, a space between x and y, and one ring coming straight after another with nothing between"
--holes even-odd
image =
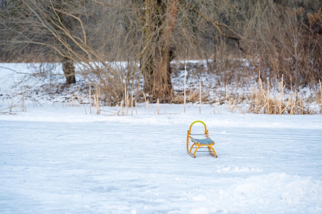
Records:
<instances>
[{"instance_id":1,"label":"bare brown trees and bushes forming the woodland behind the frozen pond","mask_svg":"<svg viewBox=\"0 0 322 214\"><path fill-rule=\"evenodd\" d=\"M229 98L226 90L224 101L209 102L321 113L311 105L322 106L321 7L316 0L2 0L0 62L59 63L63 87L82 75L106 105L129 100L129 91L132 101L194 102L194 89L171 82L178 70L193 70L216 74L216 87L252 91Z\"/></svg>"}]
</instances>

